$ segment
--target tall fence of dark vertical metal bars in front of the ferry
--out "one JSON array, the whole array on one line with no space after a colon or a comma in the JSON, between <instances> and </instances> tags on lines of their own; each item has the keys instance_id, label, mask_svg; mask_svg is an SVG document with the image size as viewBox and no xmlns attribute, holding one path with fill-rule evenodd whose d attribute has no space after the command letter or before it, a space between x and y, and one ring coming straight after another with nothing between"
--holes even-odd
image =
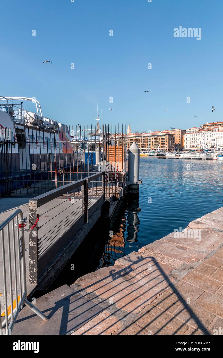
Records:
<instances>
[{"instance_id":1,"label":"tall fence of dark vertical metal bars in front of the ferry","mask_svg":"<svg viewBox=\"0 0 223 358\"><path fill-rule=\"evenodd\" d=\"M126 125L100 129L15 123L5 131L10 138L0 140L1 197L40 195L101 170L106 171L107 198L117 196L126 182Z\"/></svg>"}]
</instances>

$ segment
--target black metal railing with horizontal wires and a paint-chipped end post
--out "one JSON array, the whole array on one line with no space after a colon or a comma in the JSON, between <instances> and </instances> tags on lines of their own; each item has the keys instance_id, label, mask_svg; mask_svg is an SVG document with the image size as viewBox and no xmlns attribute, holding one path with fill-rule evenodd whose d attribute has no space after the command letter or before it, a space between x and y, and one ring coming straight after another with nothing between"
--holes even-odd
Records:
<instances>
[{"instance_id":1,"label":"black metal railing with horizontal wires and a paint-chipped end post","mask_svg":"<svg viewBox=\"0 0 223 358\"><path fill-rule=\"evenodd\" d=\"M29 200L30 284L39 282L104 202L104 171Z\"/></svg>"}]
</instances>

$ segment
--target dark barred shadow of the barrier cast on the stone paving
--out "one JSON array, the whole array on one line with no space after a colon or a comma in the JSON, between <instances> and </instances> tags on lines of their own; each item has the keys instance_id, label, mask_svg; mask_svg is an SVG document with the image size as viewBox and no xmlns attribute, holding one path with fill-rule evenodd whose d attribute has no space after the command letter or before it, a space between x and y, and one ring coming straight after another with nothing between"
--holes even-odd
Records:
<instances>
[{"instance_id":1,"label":"dark barred shadow of the barrier cast on the stone paving","mask_svg":"<svg viewBox=\"0 0 223 358\"><path fill-rule=\"evenodd\" d=\"M142 260L142 257L140 257ZM120 332L117 332L117 334L121 333L125 334L125 330L129 328L133 323L136 323L139 321L139 319L145 317L145 315L149 312L152 312L152 310L155 310L154 301L152 303L152 298L155 296L159 296L159 303L165 302L166 298L162 297L165 294L165 292L170 288L173 293L177 296L177 299L179 300L179 311L175 314L168 314L168 319L166 319L168 310L174 305L170 304L168 305L164 310L160 310L160 314L156 315L156 317L153 320L150 320L148 324L145 324L144 327L138 326L139 331L137 334L140 334L141 332L145 332L145 330L149 329L149 325L153 323L155 320L158 320L162 315L165 315L165 318L163 319L163 323L157 327L155 332L152 332L151 334L166 334L162 333L162 330L168 326L174 319L177 318L177 316L183 311L186 310L188 318L185 320L178 319L178 327L176 327L174 332L171 332L170 334L181 334L180 329L186 325L191 319L195 322L193 324L194 332L200 332L200 334L206 334L209 335L210 333L207 331L207 328L203 325L203 323L200 321L198 316L194 313L192 308L190 308L190 305L186 303L185 298L181 295L181 293L174 287L173 282L171 282L171 279L162 267L159 265L159 263L155 260L154 257L144 257L146 259L150 258L151 262L153 263L152 266L156 266L155 270L152 271L151 277L145 274L142 274L142 272L145 272L145 270L140 271L140 268L142 266L145 266L145 263L142 262L141 265L137 265L141 263L141 260L136 260L134 263L130 264L129 266L126 266L124 268L121 268L121 266L116 266L115 269L111 269L109 274L102 279L98 279L95 282L93 282L90 285L87 285L84 288L77 289L77 286L75 288L73 294L67 296L67 301L64 304L63 300L55 301L55 306L48 307L47 309L43 310L45 314L48 313L48 319L50 319L58 309L62 309L62 317L60 322L60 330L59 334L71 334L72 332L75 332L79 328L79 324L77 326L75 319L81 319L81 316L88 313L87 319L83 319L82 325L89 322L91 319L93 319L95 316L91 316L91 313L88 310L84 310L84 304L79 304L78 301L79 298L75 299L75 295L78 293L81 293L83 296L85 296L88 300L93 300L94 306L100 305L101 310L99 311L99 314L102 313L104 310L106 310L106 317L103 316L103 318L98 319L95 321L95 323L89 323L88 328L83 329L83 332L79 334L95 334L91 333L93 330L97 327L97 330L100 331L98 334L106 334L106 332L109 332L109 329L112 329L112 327L115 327L116 323L109 323L109 318L113 317L115 318L115 321L118 320L124 324L122 326L122 329ZM131 266L137 265L137 270L133 269ZM108 269L108 267L107 267ZM148 277L149 276L149 277ZM95 277L94 277L95 278ZM147 278L147 282L145 284L144 279ZM121 279L121 283L120 283ZM108 282L106 282L108 280ZM117 281L114 285L114 281ZM153 281L153 282L152 282ZM110 285L112 283L112 285ZM122 284L124 283L125 287L122 287ZM176 282L175 282L176 283ZM159 287L159 285L162 284L162 288ZM75 285L75 284L74 284ZM100 294L96 295L94 293L94 287L96 290L100 290ZM128 291L130 290L131 291ZM144 291L143 295L139 291ZM127 293L126 293L127 291ZM151 292L151 295L150 295ZM120 295L117 299L115 298L116 295ZM135 297L132 298L132 296L135 295ZM171 293L170 293L171 295ZM101 296L104 296L103 298ZM137 300L140 298L140 303L137 303ZM108 303L109 300L112 299L113 303ZM72 303L75 304L75 308L72 308ZM135 301L135 302L134 302ZM122 304L123 302L123 304ZM133 304L133 308L129 309L128 306ZM93 307L94 307L93 306ZM75 311L80 310L80 313L77 314L74 318L69 319L69 315L72 313L73 309ZM34 316L34 315L33 315ZM23 318L19 321L23 321L29 319ZM71 325L71 322L73 320L73 324ZM106 322L107 320L107 322ZM50 321L49 321L50 322ZM72 328L67 329L67 325L69 323L69 326ZM100 330L100 325L103 327ZM190 324L191 325L191 324ZM195 325L197 326L195 328ZM89 327L90 326L90 327ZM123 329L124 328L124 329ZM115 330L115 329L114 329ZM149 330L150 331L150 330ZM108 333L111 334L111 333ZM145 333L142 333L145 334ZM147 333L149 334L149 333ZM192 333L193 334L193 333Z\"/></svg>"}]
</instances>

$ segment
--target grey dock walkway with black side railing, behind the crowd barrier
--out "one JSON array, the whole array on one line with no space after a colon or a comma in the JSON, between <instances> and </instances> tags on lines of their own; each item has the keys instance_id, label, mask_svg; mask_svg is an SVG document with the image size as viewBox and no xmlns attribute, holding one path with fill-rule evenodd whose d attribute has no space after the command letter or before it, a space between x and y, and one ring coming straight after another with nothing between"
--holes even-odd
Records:
<instances>
[{"instance_id":1,"label":"grey dock walkway with black side railing, behind the crowd barrier","mask_svg":"<svg viewBox=\"0 0 223 358\"><path fill-rule=\"evenodd\" d=\"M100 175L104 175L104 173L93 175L93 179L95 176L100 178ZM73 186L77 189L82 188L87 180L91 184L92 176L75 182ZM35 290L47 288L50 282L53 282L96 221L101 216L105 218L112 216L126 189L125 185L117 186L115 184L109 185L109 188L107 187L105 190L102 182L97 182L97 186L89 188L89 184L87 211L83 207L86 196L83 196L80 190L74 192L73 195L62 195L62 191L65 190L67 193L68 189L71 189L71 185L69 188L54 189L31 199L29 197L1 199L0 222L4 222L17 209L21 209L23 216L29 219L31 219L31 215L34 215L35 221L38 208L39 222L36 227L38 231L35 231L38 234L33 237L33 233L24 232L28 295L33 294ZM110 196L108 197L108 195ZM44 204L41 203L43 200ZM9 239L12 244L11 225L9 226ZM60 242L61 244L59 244ZM2 256L0 256L0 266L2 264ZM13 262L12 270L14 270ZM33 274L34 272L35 274ZM3 276L1 276L0 292L4 292L3 288ZM7 291L10 292L9 281L7 282ZM15 300L15 297L13 298ZM1 299L3 304L4 295L1 296Z\"/></svg>"}]
</instances>

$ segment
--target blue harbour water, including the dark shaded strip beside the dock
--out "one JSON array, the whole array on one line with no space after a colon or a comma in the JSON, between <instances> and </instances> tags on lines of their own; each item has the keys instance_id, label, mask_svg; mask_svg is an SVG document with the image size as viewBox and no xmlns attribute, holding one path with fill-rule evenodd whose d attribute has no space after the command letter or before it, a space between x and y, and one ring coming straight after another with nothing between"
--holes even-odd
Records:
<instances>
[{"instance_id":1,"label":"blue harbour water, including the dark shaded strip beside the dock","mask_svg":"<svg viewBox=\"0 0 223 358\"><path fill-rule=\"evenodd\" d=\"M139 197L124 199L111 222L94 225L60 279L71 284L222 207L222 176L223 163L217 160L140 157ZM71 263L75 265L72 273Z\"/></svg>"}]
</instances>

